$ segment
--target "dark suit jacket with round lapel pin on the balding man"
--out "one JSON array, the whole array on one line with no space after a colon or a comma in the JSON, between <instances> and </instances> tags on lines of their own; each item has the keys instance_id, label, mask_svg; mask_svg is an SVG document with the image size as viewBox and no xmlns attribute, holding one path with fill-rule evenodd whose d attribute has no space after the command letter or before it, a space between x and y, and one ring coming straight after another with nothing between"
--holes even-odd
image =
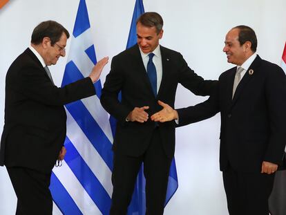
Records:
<instances>
[{"instance_id":1,"label":"dark suit jacket with round lapel pin on the balding man","mask_svg":"<svg viewBox=\"0 0 286 215\"><path fill-rule=\"evenodd\" d=\"M249 74L252 70L254 73ZM286 143L286 77L283 70L259 56L232 97L236 67L222 73L218 91L209 100L178 109L180 125L209 118L220 111L220 169L261 171L263 160L281 165Z\"/></svg>"}]
</instances>

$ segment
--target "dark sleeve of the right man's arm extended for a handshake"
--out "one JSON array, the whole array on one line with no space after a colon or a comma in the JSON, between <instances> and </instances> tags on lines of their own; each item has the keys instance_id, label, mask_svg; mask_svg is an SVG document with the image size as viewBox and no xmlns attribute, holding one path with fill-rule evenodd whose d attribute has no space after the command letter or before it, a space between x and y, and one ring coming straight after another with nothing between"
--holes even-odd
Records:
<instances>
[{"instance_id":1,"label":"dark sleeve of the right man's arm extended for a handshake","mask_svg":"<svg viewBox=\"0 0 286 215\"><path fill-rule=\"evenodd\" d=\"M211 118L220 111L219 109L219 93L218 84L213 88L211 96L208 100L196 104L195 106L189 106L183 109L177 109L179 124L178 127L199 122Z\"/></svg>"}]
</instances>

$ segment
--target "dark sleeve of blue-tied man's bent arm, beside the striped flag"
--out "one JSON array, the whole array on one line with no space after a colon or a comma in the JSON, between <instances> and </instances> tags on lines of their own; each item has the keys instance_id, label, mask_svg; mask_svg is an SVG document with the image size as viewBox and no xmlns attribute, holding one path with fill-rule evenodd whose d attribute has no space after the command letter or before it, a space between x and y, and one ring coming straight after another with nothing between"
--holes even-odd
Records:
<instances>
[{"instance_id":1,"label":"dark sleeve of blue-tied man's bent arm, beside the striped flag","mask_svg":"<svg viewBox=\"0 0 286 215\"><path fill-rule=\"evenodd\" d=\"M127 115L133 110L132 107L125 106L118 99L118 95L124 84L124 70L120 66L120 61L113 57L111 71L106 75L106 81L102 88L100 102L104 109L113 117L124 124Z\"/></svg>"}]
</instances>

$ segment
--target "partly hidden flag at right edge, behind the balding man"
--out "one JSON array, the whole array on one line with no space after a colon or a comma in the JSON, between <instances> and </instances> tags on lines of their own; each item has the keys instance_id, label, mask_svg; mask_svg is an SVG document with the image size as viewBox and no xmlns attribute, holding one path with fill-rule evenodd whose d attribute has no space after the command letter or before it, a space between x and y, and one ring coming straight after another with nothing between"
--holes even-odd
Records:
<instances>
[{"instance_id":1,"label":"partly hidden flag at right edge, behind the balding man","mask_svg":"<svg viewBox=\"0 0 286 215\"><path fill-rule=\"evenodd\" d=\"M286 73L286 43L282 55L281 68L283 68L283 71ZM271 196L269 197L269 211L271 215L285 215L286 213L285 169L286 166L283 168L283 170L277 171L275 174L274 187L272 189Z\"/></svg>"}]
</instances>

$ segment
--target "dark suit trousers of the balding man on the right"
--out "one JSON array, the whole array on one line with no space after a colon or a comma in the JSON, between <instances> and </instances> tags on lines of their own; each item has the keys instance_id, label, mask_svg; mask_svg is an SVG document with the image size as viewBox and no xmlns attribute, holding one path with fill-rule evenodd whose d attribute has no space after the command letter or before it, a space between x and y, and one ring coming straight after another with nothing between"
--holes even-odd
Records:
<instances>
[{"instance_id":1,"label":"dark suit trousers of the balding man on the right","mask_svg":"<svg viewBox=\"0 0 286 215\"><path fill-rule=\"evenodd\" d=\"M230 215L269 215L268 198L275 174L242 173L229 167L222 172Z\"/></svg>"}]
</instances>

